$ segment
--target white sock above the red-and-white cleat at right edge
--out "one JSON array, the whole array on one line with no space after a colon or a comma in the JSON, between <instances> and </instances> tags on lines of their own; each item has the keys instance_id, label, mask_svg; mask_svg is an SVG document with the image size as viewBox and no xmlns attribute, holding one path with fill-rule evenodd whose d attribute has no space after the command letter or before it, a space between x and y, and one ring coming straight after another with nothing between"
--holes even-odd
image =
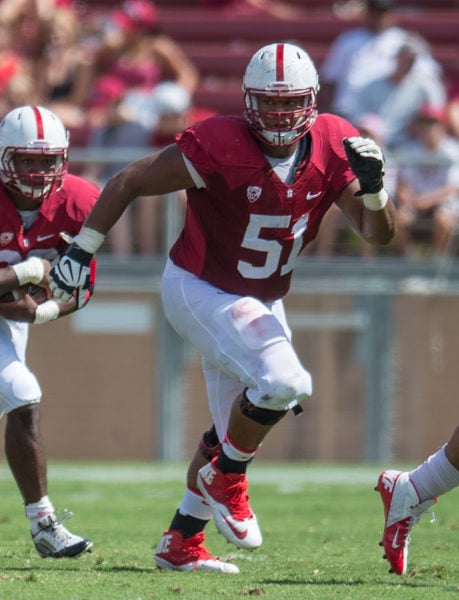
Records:
<instances>
[{"instance_id":1,"label":"white sock above the red-and-white cleat at right edge","mask_svg":"<svg viewBox=\"0 0 459 600\"><path fill-rule=\"evenodd\" d=\"M421 502L446 494L459 486L459 470L446 458L445 447L446 444L408 473Z\"/></svg>"}]
</instances>

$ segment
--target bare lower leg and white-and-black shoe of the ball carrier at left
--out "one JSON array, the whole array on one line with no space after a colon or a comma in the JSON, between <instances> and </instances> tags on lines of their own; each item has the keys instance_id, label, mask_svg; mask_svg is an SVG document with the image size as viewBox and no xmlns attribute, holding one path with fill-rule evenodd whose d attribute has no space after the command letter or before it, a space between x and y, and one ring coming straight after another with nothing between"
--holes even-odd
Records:
<instances>
[{"instance_id":1,"label":"bare lower leg and white-and-black shoe of the ball carrier at left","mask_svg":"<svg viewBox=\"0 0 459 600\"><path fill-rule=\"evenodd\" d=\"M62 525L72 516L56 517L47 495L46 459L39 430L39 404L8 413L5 453L11 472L24 498L32 539L43 558L76 557L90 551L92 542L74 535Z\"/></svg>"}]
</instances>

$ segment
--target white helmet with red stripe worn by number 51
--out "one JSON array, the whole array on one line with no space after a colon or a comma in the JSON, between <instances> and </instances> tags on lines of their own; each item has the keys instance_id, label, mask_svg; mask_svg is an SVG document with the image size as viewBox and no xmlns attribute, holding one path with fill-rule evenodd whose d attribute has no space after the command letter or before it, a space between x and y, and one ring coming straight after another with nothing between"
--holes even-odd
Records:
<instances>
[{"instance_id":1,"label":"white helmet with red stripe worn by number 51","mask_svg":"<svg viewBox=\"0 0 459 600\"><path fill-rule=\"evenodd\" d=\"M293 144L316 120L319 76L307 53L294 44L269 44L255 52L247 65L242 90L245 118L265 144ZM302 98L303 106L283 112L261 111L260 96Z\"/></svg>"}]
</instances>

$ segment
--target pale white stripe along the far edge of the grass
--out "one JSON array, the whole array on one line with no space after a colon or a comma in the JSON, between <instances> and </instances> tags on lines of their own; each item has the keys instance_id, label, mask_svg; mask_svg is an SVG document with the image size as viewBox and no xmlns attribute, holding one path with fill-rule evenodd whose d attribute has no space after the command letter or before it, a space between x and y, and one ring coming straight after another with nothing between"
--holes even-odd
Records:
<instances>
[{"instance_id":1,"label":"pale white stripe along the far edge of the grass","mask_svg":"<svg viewBox=\"0 0 459 600\"><path fill-rule=\"evenodd\" d=\"M50 480L97 483L184 483L186 463L152 464L50 464ZM308 483L315 484L376 484L383 467L327 465L253 465L250 482L276 485L288 491ZM8 467L0 466L0 480L12 479Z\"/></svg>"}]
</instances>

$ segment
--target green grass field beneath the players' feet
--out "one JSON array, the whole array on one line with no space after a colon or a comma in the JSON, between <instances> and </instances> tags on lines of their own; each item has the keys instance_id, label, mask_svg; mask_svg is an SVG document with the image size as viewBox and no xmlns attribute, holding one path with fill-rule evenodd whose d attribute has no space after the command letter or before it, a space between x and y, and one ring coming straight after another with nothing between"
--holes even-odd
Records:
<instances>
[{"instance_id":1,"label":"green grass field beneath the players' feet","mask_svg":"<svg viewBox=\"0 0 459 600\"><path fill-rule=\"evenodd\" d=\"M434 524L415 527L410 570L388 573L378 546L379 466L254 463L252 507L264 534L249 553L207 528L213 553L239 575L159 571L153 548L181 499L185 465L50 465L56 508L70 530L92 539L78 559L41 559L29 538L15 484L0 466L0 598L8 600L225 600L259 597L408 599L459 593L457 490L436 505Z\"/></svg>"}]
</instances>

